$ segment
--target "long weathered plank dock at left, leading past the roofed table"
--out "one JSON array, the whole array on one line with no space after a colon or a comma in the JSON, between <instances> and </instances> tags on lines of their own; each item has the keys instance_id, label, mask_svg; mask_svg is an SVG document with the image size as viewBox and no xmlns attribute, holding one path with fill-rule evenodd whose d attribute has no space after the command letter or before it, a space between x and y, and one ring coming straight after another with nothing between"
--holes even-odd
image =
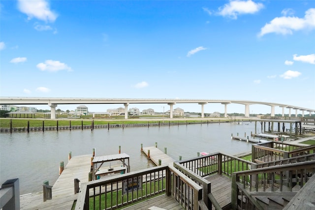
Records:
<instances>
[{"instance_id":1,"label":"long weathered plank dock at left, leading past the roofed table","mask_svg":"<svg viewBox=\"0 0 315 210\"><path fill-rule=\"evenodd\" d=\"M92 155L80 155L69 160L52 187L51 200L43 201L43 191L20 196L21 210L71 210L78 197L78 194L74 194L74 179L79 179L80 183L89 180L91 157Z\"/></svg>"}]
</instances>

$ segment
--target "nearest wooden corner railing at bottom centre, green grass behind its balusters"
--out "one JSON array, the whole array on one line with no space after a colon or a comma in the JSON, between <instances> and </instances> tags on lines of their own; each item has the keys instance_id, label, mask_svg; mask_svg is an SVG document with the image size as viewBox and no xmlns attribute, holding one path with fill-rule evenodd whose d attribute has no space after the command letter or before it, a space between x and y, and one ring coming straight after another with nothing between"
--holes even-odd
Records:
<instances>
[{"instance_id":1,"label":"nearest wooden corner railing at bottom centre, green grass behind its balusters","mask_svg":"<svg viewBox=\"0 0 315 210\"><path fill-rule=\"evenodd\" d=\"M115 210L161 194L187 210L205 207L202 187L170 164L82 183L75 210Z\"/></svg>"}]
</instances>

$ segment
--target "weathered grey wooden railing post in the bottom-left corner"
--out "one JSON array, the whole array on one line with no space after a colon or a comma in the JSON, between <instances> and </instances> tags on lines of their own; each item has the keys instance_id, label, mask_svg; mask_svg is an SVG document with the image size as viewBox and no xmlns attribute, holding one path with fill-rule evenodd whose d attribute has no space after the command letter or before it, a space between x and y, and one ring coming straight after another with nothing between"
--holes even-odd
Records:
<instances>
[{"instance_id":1,"label":"weathered grey wooden railing post in the bottom-left corner","mask_svg":"<svg viewBox=\"0 0 315 210\"><path fill-rule=\"evenodd\" d=\"M20 210L20 184L19 179L6 180L1 185L1 190L5 188L13 187L13 196L8 198L8 202L6 204L1 203L0 208L2 210ZM1 193L1 201L2 201L2 193Z\"/></svg>"}]
</instances>

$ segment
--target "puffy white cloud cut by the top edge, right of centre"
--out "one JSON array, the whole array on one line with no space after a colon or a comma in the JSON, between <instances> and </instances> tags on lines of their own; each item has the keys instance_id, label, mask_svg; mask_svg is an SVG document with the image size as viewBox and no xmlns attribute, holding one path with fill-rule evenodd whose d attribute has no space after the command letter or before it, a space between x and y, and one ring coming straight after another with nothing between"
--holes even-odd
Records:
<instances>
[{"instance_id":1,"label":"puffy white cloud cut by the top edge, right of centre","mask_svg":"<svg viewBox=\"0 0 315 210\"><path fill-rule=\"evenodd\" d=\"M229 3L219 8L219 15L237 19L238 15L253 14L262 9L262 3L255 3L252 0L231 0Z\"/></svg>"}]
</instances>

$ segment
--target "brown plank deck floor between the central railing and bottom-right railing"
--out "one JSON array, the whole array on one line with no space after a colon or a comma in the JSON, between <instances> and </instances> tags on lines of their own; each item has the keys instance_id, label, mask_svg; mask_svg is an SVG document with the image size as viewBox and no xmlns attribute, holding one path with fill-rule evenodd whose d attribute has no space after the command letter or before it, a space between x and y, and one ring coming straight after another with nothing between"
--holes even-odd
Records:
<instances>
[{"instance_id":1,"label":"brown plank deck floor between the central railing and bottom-right railing","mask_svg":"<svg viewBox=\"0 0 315 210\"><path fill-rule=\"evenodd\" d=\"M232 179L224 175L215 174L205 177L206 180L211 181L211 193L223 208L231 203ZM214 207L212 206L212 209Z\"/></svg>"}]
</instances>

